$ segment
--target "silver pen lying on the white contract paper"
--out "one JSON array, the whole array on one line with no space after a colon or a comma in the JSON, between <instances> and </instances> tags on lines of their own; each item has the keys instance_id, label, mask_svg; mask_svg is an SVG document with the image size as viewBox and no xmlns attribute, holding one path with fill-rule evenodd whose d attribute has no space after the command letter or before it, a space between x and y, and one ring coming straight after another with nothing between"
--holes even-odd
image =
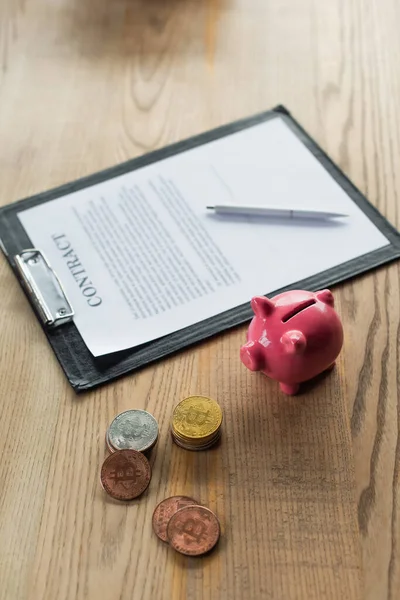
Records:
<instances>
[{"instance_id":1,"label":"silver pen lying on the white contract paper","mask_svg":"<svg viewBox=\"0 0 400 600\"><path fill-rule=\"evenodd\" d=\"M336 219L338 217L347 217L343 213L326 212L320 210L306 210L302 208L278 208L268 206L239 206L237 204L216 204L207 206L208 210L213 210L216 214L224 215L246 215L259 217L278 217L285 219Z\"/></svg>"}]
</instances>

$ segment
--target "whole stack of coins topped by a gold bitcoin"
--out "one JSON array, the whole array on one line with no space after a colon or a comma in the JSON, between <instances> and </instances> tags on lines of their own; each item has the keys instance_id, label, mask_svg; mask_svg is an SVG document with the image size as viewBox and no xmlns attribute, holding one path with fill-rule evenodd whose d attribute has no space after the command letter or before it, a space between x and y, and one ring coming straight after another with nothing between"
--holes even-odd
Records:
<instances>
[{"instance_id":1,"label":"whole stack of coins topped by a gold bitcoin","mask_svg":"<svg viewBox=\"0 0 400 600\"><path fill-rule=\"evenodd\" d=\"M221 436L222 411L206 396L189 396L175 408L171 434L174 442L185 450L206 450Z\"/></svg>"}]
</instances>

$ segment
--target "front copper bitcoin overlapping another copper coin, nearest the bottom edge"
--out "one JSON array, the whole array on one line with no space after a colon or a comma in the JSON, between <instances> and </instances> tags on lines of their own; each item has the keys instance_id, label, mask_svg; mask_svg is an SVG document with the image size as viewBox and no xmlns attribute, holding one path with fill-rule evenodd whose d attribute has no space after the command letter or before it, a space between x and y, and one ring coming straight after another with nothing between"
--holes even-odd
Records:
<instances>
[{"instance_id":1,"label":"front copper bitcoin overlapping another copper coin, nearest the bottom edge","mask_svg":"<svg viewBox=\"0 0 400 600\"><path fill-rule=\"evenodd\" d=\"M216 515L204 506L179 509L172 515L167 526L170 545L187 556L200 556L212 550L220 533Z\"/></svg>"}]
</instances>

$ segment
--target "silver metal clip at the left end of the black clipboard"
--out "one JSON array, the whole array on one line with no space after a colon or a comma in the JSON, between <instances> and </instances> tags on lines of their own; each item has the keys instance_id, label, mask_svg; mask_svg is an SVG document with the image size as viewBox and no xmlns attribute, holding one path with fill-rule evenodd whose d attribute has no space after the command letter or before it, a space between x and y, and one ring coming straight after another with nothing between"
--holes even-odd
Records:
<instances>
[{"instance_id":1,"label":"silver metal clip at the left end of the black clipboard","mask_svg":"<svg viewBox=\"0 0 400 600\"><path fill-rule=\"evenodd\" d=\"M14 257L22 283L48 327L72 320L74 310L56 273L40 250L22 250Z\"/></svg>"}]
</instances>

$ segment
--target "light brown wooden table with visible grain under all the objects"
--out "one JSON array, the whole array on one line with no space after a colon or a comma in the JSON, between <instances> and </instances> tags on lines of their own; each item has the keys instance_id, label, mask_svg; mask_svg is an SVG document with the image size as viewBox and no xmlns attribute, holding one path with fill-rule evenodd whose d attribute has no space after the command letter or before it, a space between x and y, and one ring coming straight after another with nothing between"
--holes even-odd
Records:
<instances>
[{"instance_id":1,"label":"light brown wooden table with visible grain under all the objects","mask_svg":"<svg viewBox=\"0 0 400 600\"><path fill-rule=\"evenodd\" d=\"M397 0L0 0L0 201L5 204L282 103L399 226ZM335 289L338 368L283 401L237 358L245 329L76 397L0 260L0 598L398 598L399 267ZM218 450L168 434L209 394ZM159 420L148 493L99 485L113 416ZM220 547L185 559L151 531L188 493Z\"/></svg>"}]
</instances>

